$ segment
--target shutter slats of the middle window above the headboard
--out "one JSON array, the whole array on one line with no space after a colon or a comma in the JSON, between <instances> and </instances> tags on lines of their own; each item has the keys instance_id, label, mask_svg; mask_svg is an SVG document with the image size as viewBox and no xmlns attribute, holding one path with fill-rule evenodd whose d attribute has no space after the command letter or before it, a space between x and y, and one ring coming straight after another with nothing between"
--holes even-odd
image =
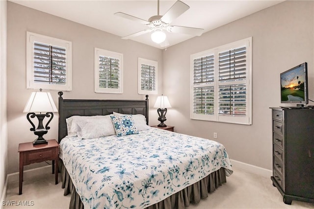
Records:
<instances>
[{"instance_id":1,"label":"shutter slats of the middle window above the headboard","mask_svg":"<svg viewBox=\"0 0 314 209\"><path fill-rule=\"evenodd\" d=\"M99 87L118 89L120 60L117 58L99 56Z\"/></svg>"}]
</instances>

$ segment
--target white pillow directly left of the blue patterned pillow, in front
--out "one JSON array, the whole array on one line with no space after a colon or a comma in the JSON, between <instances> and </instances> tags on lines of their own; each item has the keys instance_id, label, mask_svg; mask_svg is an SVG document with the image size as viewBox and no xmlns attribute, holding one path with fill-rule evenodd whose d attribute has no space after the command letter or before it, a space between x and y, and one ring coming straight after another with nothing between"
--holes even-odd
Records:
<instances>
[{"instance_id":1,"label":"white pillow directly left of the blue patterned pillow, in front","mask_svg":"<svg viewBox=\"0 0 314 209\"><path fill-rule=\"evenodd\" d=\"M80 139L95 139L116 134L110 116L80 120L77 124L81 130L78 132Z\"/></svg>"}]
</instances>

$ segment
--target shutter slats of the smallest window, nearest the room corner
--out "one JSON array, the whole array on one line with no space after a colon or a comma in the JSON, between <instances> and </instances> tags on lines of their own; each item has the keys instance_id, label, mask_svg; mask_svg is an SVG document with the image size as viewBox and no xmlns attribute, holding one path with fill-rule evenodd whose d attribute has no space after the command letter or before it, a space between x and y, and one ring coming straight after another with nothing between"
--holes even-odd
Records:
<instances>
[{"instance_id":1,"label":"shutter slats of the smallest window, nearest the room corner","mask_svg":"<svg viewBox=\"0 0 314 209\"><path fill-rule=\"evenodd\" d=\"M156 70L155 66L141 64L141 90L156 90Z\"/></svg>"}]
</instances>

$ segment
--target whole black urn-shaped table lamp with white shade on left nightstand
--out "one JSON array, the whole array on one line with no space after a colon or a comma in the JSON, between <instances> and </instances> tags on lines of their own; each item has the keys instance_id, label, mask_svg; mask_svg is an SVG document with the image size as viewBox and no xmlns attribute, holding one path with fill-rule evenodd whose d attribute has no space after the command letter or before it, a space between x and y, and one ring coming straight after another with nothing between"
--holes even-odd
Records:
<instances>
[{"instance_id":1,"label":"whole black urn-shaped table lamp with white shade on left nightstand","mask_svg":"<svg viewBox=\"0 0 314 209\"><path fill-rule=\"evenodd\" d=\"M43 135L47 134L48 130L50 129L48 125L53 117L52 112L58 112L58 110L49 92L42 92L42 89L40 89L39 92L32 92L30 94L30 97L26 103L23 113L28 113L26 118L32 125L32 128L30 128L29 130L33 131L34 134L38 136L38 138L33 141L33 145L48 143L48 141L43 138ZM34 123L29 118L29 117L34 118L35 116L38 118L37 129L35 129ZM44 128L43 119L45 118L45 116L47 117L51 116L51 118L49 119L49 121L46 124L46 127Z\"/></svg>"}]
</instances>

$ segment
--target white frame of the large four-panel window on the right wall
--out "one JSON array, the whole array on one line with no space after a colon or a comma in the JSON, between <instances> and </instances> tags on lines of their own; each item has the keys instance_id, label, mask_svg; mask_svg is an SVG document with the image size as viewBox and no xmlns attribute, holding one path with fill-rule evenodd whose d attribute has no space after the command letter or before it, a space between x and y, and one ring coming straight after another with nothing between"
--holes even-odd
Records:
<instances>
[{"instance_id":1,"label":"white frame of the large four-panel window on the right wall","mask_svg":"<svg viewBox=\"0 0 314 209\"><path fill-rule=\"evenodd\" d=\"M235 84L244 84L246 85L246 114L245 116L234 116L234 115L219 115L219 86L224 86L225 83L219 82L219 56L218 54L226 51L226 50L232 50L234 48L240 47L240 46L246 46L246 79L244 81L234 81L230 82L233 85ZM214 88L214 114L213 115L206 115L206 114L195 114L194 113L194 88L197 87L197 85L194 85L194 60L209 56L213 54L214 55L214 81L209 82L208 84L200 84L198 87L213 87ZM196 119L196 120L206 120L206 121L215 121L215 122L225 122L225 123L235 123L235 124L245 124L245 125L251 125L252 124L252 37L242 39L239 41L235 41L230 44L226 44L223 46L214 47L202 52L198 52L195 54L192 54L190 56L190 118ZM228 83L228 82L227 82Z\"/></svg>"}]
</instances>

